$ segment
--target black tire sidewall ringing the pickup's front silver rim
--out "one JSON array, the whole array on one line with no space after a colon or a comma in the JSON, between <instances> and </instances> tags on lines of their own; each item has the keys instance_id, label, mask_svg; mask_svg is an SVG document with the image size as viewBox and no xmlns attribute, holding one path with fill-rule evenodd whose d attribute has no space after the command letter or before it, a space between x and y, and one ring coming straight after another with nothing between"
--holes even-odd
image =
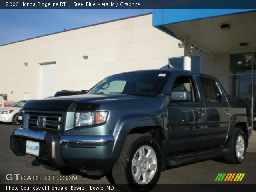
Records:
<instances>
[{"instance_id":1,"label":"black tire sidewall ringing the pickup's front silver rim","mask_svg":"<svg viewBox=\"0 0 256 192\"><path fill-rule=\"evenodd\" d=\"M155 173L154 177L148 184L138 184L138 183L136 183L136 181L134 180L134 178L132 176L132 174L133 174L132 173L132 159L134 157L135 152L141 146L145 146L145 145L152 147L154 149L154 151L156 152L157 169L156 169L156 173ZM148 190L152 189L160 177L161 168L162 168L162 158L161 158L161 153L160 153L160 147L159 147L158 143L156 142L156 140L154 140L153 138L150 138L150 137L145 137L145 138L141 139L140 141L138 141L134 145L132 150L130 151L130 156L128 158L128 162L126 165L127 165L126 166L127 178L128 178L129 184L131 185L131 187L134 190L148 191Z\"/></svg>"}]
</instances>

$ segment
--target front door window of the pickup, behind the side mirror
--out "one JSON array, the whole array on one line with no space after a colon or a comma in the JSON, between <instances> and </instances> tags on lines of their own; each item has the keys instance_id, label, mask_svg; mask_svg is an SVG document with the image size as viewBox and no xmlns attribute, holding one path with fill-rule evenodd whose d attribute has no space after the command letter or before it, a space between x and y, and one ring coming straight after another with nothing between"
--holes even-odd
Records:
<instances>
[{"instance_id":1,"label":"front door window of the pickup, behind the side mirror","mask_svg":"<svg viewBox=\"0 0 256 192\"><path fill-rule=\"evenodd\" d=\"M172 86L172 91L173 90L187 90L189 96L188 102L198 101L194 80L191 76L179 76L178 78L176 78Z\"/></svg>"}]
</instances>

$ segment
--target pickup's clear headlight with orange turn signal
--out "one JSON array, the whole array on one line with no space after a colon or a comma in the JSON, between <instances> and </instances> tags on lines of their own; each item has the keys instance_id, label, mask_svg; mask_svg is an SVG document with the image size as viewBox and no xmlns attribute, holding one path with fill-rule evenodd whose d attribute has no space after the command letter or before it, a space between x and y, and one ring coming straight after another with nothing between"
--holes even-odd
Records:
<instances>
[{"instance_id":1,"label":"pickup's clear headlight with orange turn signal","mask_svg":"<svg viewBox=\"0 0 256 192\"><path fill-rule=\"evenodd\" d=\"M107 111L101 112L77 112L75 126L86 126L86 125L94 125L94 124L102 124L108 118Z\"/></svg>"}]
</instances>

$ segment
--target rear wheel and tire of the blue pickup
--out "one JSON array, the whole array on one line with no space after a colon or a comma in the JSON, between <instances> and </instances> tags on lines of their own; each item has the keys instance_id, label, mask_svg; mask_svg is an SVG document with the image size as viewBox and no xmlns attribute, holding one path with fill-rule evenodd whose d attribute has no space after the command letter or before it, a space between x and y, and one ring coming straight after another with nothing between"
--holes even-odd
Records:
<instances>
[{"instance_id":1,"label":"rear wheel and tire of the blue pickup","mask_svg":"<svg viewBox=\"0 0 256 192\"><path fill-rule=\"evenodd\" d=\"M246 136L242 128L235 128L234 134L228 144L229 154L225 155L225 159L230 164L240 164L246 155Z\"/></svg>"}]
</instances>

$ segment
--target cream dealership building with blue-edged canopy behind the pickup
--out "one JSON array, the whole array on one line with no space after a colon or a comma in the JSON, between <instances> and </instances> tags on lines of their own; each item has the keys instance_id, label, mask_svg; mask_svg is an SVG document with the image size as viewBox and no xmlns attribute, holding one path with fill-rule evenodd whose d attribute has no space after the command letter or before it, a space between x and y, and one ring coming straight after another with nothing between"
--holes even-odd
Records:
<instances>
[{"instance_id":1,"label":"cream dealership building with blue-edged canopy behind the pickup","mask_svg":"<svg viewBox=\"0 0 256 192\"><path fill-rule=\"evenodd\" d=\"M40 99L120 72L178 68L217 77L256 113L255 34L255 9L157 9L22 40L0 46L0 95Z\"/></svg>"}]
</instances>

